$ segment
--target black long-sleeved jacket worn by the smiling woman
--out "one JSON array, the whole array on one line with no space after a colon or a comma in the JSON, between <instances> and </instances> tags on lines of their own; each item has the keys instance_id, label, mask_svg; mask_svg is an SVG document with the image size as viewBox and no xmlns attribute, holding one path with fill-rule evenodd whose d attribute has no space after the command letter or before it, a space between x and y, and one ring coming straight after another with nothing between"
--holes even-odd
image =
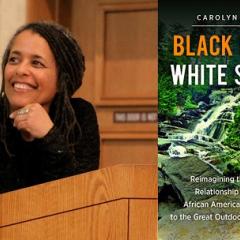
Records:
<instances>
[{"instance_id":1,"label":"black long-sleeved jacket worn by the smiling woman","mask_svg":"<svg viewBox=\"0 0 240 240\"><path fill-rule=\"evenodd\" d=\"M44 138L26 142L8 119L7 143L13 156L9 157L0 141L0 193L98 168L99 131L95 110L80 98L71 99L71 103L82 130L75 153L57 128L53 127Z\"/></svg>"}]
</instances>

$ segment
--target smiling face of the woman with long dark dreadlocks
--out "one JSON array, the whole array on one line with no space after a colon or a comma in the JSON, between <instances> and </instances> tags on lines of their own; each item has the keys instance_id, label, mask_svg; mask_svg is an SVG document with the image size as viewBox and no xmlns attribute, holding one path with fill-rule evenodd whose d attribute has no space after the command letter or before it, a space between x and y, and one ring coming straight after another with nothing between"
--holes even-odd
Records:
<instances>
[{"instance_id":1,"label":"smiling face of the woman with long dark dreadlocks","mask_svg":"<svg viewBox=\"0 0 240 240\"><path fill-rule=\"evenodd\" d=\"M11 110L39 103L48 111L56 94L57 67L47 41L26 30L13 41L4 71Z\"/></svg>"}]
</instances>

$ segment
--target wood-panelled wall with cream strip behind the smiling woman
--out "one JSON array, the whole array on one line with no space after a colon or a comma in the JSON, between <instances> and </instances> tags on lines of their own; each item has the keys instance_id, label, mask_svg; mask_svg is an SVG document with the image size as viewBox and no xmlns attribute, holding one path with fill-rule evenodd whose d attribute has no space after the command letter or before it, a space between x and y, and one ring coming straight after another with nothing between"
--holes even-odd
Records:
<instances>
[{"instance_id":1,"label":"wood-panelled wall with cream strip behind the smiling woman","mask_svg":"<svg viewBox=\"0 0 240 240\"><path fill-rule=\"evenodd\" d=\"M157 163L157 0L0 0L0 54L17 27L36 20L69 28L83 49L74 97L96 108L101 167Z\"/></svg>"}]
</instances>

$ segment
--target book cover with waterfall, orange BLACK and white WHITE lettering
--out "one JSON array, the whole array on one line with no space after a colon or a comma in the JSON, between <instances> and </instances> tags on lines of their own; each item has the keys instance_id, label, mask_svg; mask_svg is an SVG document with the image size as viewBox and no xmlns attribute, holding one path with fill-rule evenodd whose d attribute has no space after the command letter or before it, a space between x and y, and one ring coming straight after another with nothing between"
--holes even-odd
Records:
<instances>
[{"instance_id":1,"label":"book cover with waterfall, orange BLACK and white WHITE lettering","mask_svg":"<svg viewBox=\"0 0 240 240\"><path fill-rule=\"evenodd\" d=\"M240 239L238 5L159 4L160 240Z\"/></svg>"}]
</instances>

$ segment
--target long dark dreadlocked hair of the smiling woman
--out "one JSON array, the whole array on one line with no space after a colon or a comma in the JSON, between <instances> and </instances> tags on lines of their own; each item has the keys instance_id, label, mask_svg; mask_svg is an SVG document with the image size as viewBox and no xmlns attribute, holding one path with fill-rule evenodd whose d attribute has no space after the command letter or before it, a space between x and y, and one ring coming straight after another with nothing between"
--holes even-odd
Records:
<instances>
[{"instance_id":1,"label":"long dark dreadlocked hair of the smiling woman","mask_svg":"<svg viewBox=\"0 0 240 240\"><path fill-rule=\"evenodd\" d=\"M10 40L3 55L3 75L14 39L18 34L26 30L30 30L43 37L48 42L54 55L58 70L57 93L51 103L49 114L54 125L64 136L66 143L74 151L74 143L77 137L76 130L79 130L81 134L81 128L71 106L70 98L82 84L83 73L85 71L84 56L76 40L64 27L49 22L33 22L19 28ZM2 82L0 97L3 104L3 112L0 117L2 118L1 122L3 125L0 127L0 138L8 151L6 144L6 120L9 116L9 104L4 94L4 77Z\"/></svg>"}]
</instances>

